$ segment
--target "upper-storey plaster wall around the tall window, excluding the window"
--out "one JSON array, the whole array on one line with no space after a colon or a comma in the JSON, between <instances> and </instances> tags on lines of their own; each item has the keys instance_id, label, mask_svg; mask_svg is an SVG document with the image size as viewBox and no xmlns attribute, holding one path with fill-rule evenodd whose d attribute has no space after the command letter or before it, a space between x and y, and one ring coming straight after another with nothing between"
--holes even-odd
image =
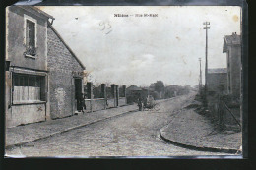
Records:
<instances>
[{"instance_id":1,"label":"upper-storey plaster wall around the tall window, excluding the window","mask_svg":"<svg viewBox=\"0 0 256 170\"><path fill-rule=\"evenodd\" d=\"M36 20L36 56L35 58L26 57L25 41L25 18L24 15L32 17ZM37 70L46 70L46 29L47 18L40 18L29 11L17 6L11 6L7 11L8 36L7 36L7 53L11 65L26 67Z\"/></svg>"}]
</instances>

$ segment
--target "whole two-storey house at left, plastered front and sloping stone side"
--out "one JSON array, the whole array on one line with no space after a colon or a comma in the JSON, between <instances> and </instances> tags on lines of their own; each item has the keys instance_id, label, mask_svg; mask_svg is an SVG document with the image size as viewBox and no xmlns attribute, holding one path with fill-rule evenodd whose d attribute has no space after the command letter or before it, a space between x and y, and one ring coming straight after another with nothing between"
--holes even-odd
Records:
<instances>
[{"instance_id":1,"label":"whole two-storey house at left, plastered front and sloping stone side","mask_svg":"<svg viewBox=\"0 0 256 170\"><path fill-rule=\"evenodd\" d=\"M82 110L85 67L32 6L6 9L6 127L71 116Z\"/></svg>"}]
</instances>

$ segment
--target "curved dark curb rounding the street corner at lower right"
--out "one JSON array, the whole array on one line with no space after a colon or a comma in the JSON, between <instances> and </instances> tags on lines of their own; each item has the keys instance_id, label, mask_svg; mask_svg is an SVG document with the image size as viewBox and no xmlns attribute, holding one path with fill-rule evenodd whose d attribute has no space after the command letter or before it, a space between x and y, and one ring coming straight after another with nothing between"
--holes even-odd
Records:
<instances>
[{"instance_id":1,"label":"curved dark curb rounding the street corner at lower right","mask_svg":"<svg viewBox=\"0 0 256 170\"><path fill-rule=\"evenodd\" d=\"M241 151L238 150L238 149L217 148L217 147L199 147L199 146L195 146L195 145L184 144L184 143L181 143L181 142L174 142L174 141L172 141L170 139L165 138L162 135L161 131L160 131L160 138L163 141L168 142L170 144L173 144L173 145L176 145L176 146L180 146L180 147L183 147L183 148L188 148L188 149L191 149L191 150L241 154Z\"/></svg>"}]
</instances>

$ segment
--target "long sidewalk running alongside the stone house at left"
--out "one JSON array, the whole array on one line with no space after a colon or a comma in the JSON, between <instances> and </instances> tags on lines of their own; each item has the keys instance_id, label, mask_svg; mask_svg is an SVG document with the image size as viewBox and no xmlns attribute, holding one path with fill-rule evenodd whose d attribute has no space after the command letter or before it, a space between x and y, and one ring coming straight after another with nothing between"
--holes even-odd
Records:
<instances>
[{"instance_id":1,"label":"long sidewalk running alongside the stone house at left","mask_svg":"<svg viewBox=\"0 0 256 170\"><path fill-rule=\"evenodd\" d=\"M27 142L33 142L137 110L137 105L127 105L92 113L85 113L78 116L74 115L57 120L8 128L6 130L5 145L6 148L8 148L25 144Z\"/></svg>"}]
</instances>

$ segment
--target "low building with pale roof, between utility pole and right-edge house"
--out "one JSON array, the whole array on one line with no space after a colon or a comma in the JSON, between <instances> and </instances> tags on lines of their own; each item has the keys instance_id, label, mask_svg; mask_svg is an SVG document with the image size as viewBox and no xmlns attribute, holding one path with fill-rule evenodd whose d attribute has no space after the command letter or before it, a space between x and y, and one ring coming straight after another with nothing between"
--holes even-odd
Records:
<instances>
[{"instance_id":1,"label":"low building with pale roof, between utility pole and right-edge house","mask_svg":"<svg viewBox=\"0 0 256 170\"><path fill-rule=\"evenodd\" d=\"M208 69L208 91L214 93L226 93L227 73L226 68Z\"/></svg>"}]
</instances>

